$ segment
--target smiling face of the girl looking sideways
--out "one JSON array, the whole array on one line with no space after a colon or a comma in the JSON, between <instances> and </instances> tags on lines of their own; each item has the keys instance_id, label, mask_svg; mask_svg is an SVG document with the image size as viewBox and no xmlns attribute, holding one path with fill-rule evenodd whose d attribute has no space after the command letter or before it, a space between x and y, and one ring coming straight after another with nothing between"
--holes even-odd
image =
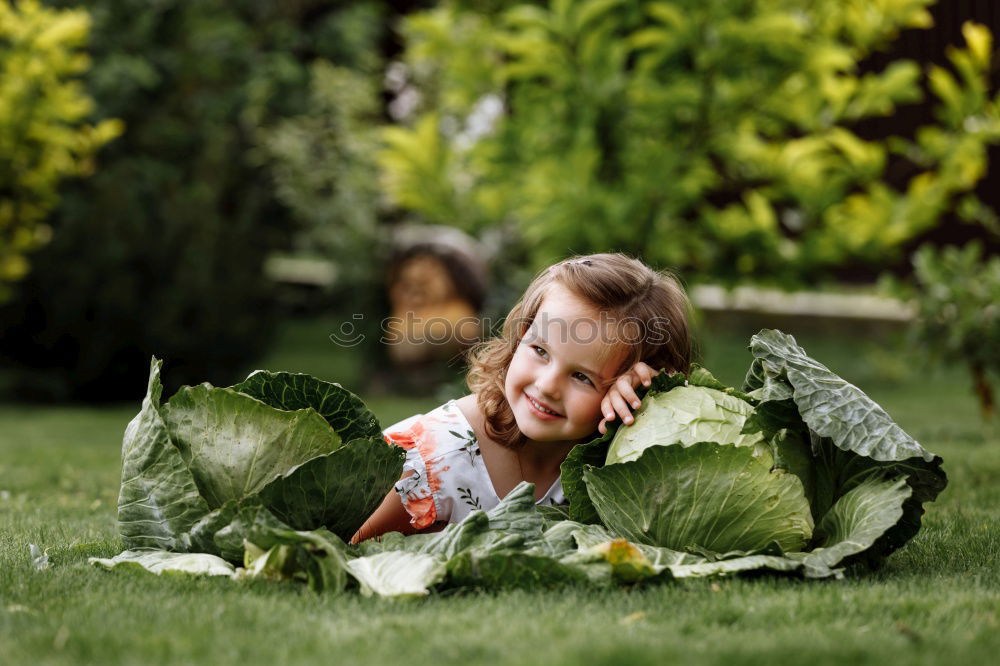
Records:
<instances>
[{"instance_id":1,"label":"smiling face of the girl looking sideways","mask_svg":"<svg viewBox=\"0 0 1000 666\"><path fill-rule=\"evenodd\" d=\"M558 283L542 300L504 383L528 439L577 441L597 429L601 400L626 353L598 317L593 306Z\"/></svg>"}]
</instances>

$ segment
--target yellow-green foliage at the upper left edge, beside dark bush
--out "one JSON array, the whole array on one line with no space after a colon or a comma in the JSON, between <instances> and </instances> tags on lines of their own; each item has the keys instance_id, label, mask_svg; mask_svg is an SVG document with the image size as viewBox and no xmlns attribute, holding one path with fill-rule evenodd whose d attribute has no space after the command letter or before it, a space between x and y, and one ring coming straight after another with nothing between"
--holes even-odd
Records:
<instances>
[{"instance_id":1,"label":"yellow-green foliage at the upper left edge, beside dark bush","mask_svg":"<svg viewBox=\"0 0 1000 666\"><path fill-rule=\"evenodd\" d=\"M84 9L0 0L0 301L48 239L59 183L89 175L95 151L122 130L117 120L86 122L89 33Z\"/></svg>"}]
</instances>

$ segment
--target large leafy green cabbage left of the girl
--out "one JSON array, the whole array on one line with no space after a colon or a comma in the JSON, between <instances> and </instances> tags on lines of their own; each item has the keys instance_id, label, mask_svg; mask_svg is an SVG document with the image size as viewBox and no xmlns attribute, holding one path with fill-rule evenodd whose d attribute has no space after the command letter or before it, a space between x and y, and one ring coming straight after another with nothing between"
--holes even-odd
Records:
<instances>
[{"instance_id":1,"label":"large leafy green cabbage left of the girl","mask_svg":"<svg viewBox=\"0 0 1000 666\"><path fill-rule=\"evenodd\" d=\"M160 365L122 443L118 528L131 550L240 561L246 526L262 515L349 539L402 473L402 450L337 384L258 371L161 404Z\"/></svg>"}]
</instances>

